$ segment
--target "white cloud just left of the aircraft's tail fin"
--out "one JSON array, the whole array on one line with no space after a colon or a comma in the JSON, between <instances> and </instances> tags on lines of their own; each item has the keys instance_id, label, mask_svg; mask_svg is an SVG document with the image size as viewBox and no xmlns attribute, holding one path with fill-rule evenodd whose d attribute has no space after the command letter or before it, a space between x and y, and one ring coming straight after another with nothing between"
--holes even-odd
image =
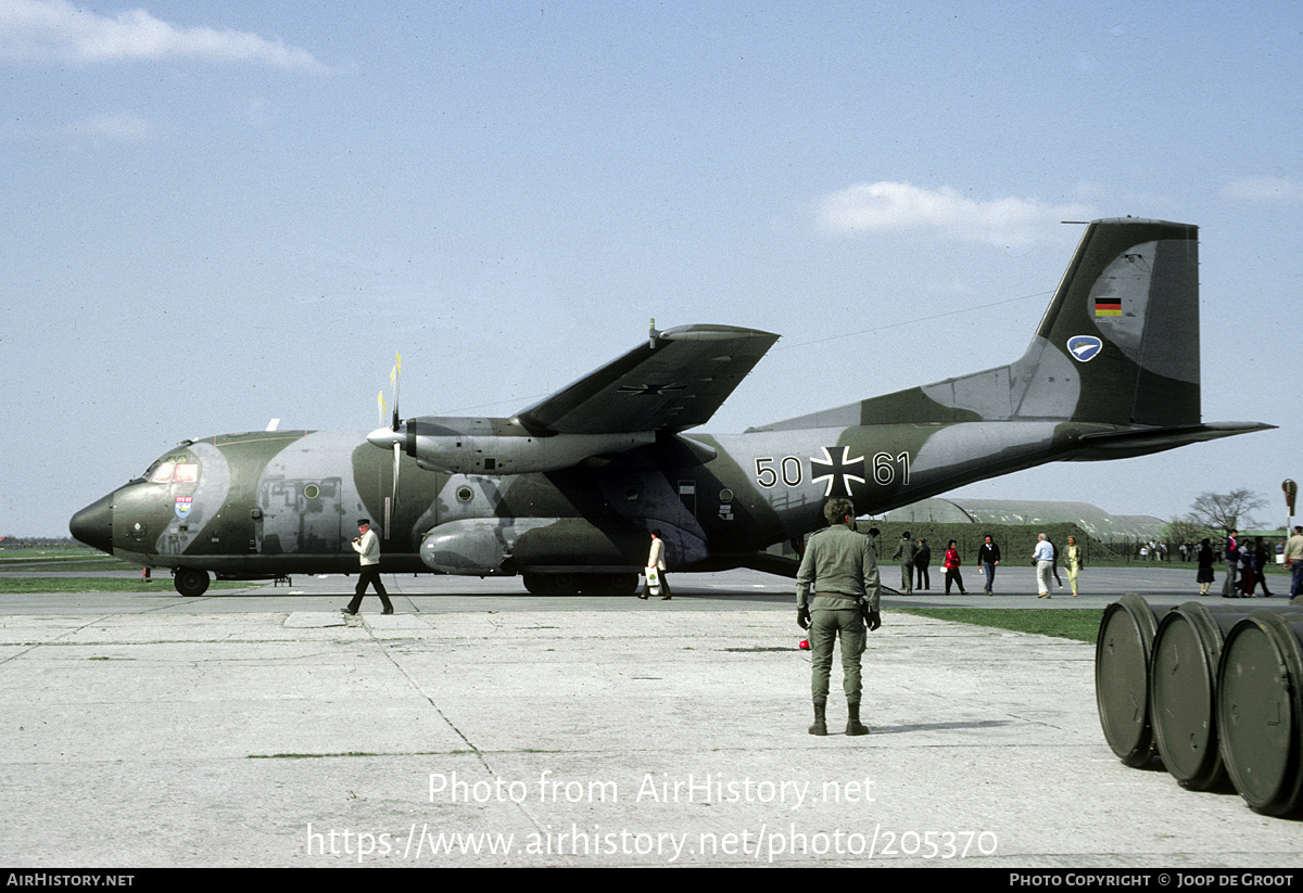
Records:
<instances>
[{"instance_id":1,"label":"white cloud just left of the aircraft's tail fin","mask_svg":"<svg viewBox=\"0 0 1303 893\"><path fill-rule=\"evenodd\" d=\"M826 233L932 232L941 238L1025 249L1052 238L1053 224L1095 216L1088 204L1048 204L1020 198L980 202L949 186L856 184L830 193L817 206Z\"/></svg>"}]
</instances>

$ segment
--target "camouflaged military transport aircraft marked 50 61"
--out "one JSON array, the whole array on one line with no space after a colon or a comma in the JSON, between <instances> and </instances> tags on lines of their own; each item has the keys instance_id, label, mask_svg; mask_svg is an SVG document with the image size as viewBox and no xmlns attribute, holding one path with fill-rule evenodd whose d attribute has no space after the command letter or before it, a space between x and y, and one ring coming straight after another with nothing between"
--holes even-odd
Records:
<instances>
[{"instance_id":1,"label":"camouflaged military transport aircraft marked 50 61","mask_svg":"<svg viewBox=\"0 0 1303 893\"><path fill-rule=\"evenodd\" d=\"M1197 228L1097 220L1022 359L749 428L706 422L777 335L658 332L511 418L421 417L371 432L186 440L73 515L73 536L182 595L210 571L521 575L534 594L632 592L659 529L674 570L795 574L766 547L823 525L1062 460L1127 458L1272 426L1203 423ZM395 396L395 404L397 398Z\"/></svg>"}]
</instances>

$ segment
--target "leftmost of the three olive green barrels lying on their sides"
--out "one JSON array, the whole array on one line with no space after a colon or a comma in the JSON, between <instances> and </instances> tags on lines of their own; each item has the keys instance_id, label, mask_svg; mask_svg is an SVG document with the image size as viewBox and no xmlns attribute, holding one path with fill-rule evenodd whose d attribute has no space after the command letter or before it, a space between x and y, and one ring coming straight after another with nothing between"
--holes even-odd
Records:
<instances>
[{"instance_id":1,"label":"leftmost of the three olive green barrels lying on their sides","mask_svg":"<svg viewBox=\"0 0 1303 893\"><path fill-rule=\"evenodd\" d=\"M1113 752L1140 767L1153 756L1149 724L1149 653L1158 617L1171 608L1149 607L1139 595L1123 595L1104 609L1095 642L1095 702Z\"/></svg>"}]
</instances>

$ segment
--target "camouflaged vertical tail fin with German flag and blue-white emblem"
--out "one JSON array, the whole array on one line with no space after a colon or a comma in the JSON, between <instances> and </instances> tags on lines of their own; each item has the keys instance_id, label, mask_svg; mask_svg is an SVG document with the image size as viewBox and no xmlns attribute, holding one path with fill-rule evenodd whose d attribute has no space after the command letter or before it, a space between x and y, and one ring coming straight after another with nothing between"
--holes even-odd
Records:
<instances>
[{"instance_id":1,"label":"camouflaged vertical tail fin with German flag and blue-white emblem","mask_svg":"<svg viewBox=\"0 0 1303 893\"><path fill-rule=\"evenodd\" d=\"M1018 362L753 430L1199 426L1199 229L1123 217L1089 224Z\"/></svg>"}]
</instances>

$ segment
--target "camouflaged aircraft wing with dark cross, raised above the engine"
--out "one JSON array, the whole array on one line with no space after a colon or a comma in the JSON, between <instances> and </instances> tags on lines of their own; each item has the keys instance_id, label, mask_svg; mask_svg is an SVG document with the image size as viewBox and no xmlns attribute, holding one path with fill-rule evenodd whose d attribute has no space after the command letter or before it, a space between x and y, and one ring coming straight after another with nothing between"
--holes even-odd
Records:
<instances>
[{"instance_id":1,"label":"camouflaged aircraft wing with dark cross, raised above the engine","mask_svg":"<svg viewBox=\"0 0 1303 893\"><path fill-rule=\"evenodd\" d=\"M770 332L732 325L653 332L516 420L539 435L685 431L714 415L775 341Z\"/></svg>"}]
</instances>

